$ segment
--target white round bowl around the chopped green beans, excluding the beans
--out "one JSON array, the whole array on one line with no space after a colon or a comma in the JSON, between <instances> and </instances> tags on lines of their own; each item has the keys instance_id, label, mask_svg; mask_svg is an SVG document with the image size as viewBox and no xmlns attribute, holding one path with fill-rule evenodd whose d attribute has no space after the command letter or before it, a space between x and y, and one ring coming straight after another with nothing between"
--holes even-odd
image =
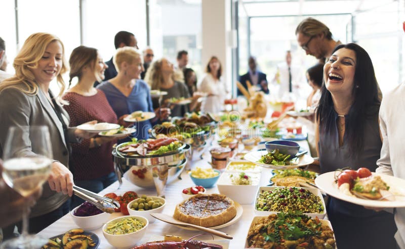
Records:
<instances>
[{"instance_id":1,"label":"white round bowl around the chopped green beans, excluding the beans","mask_svg":"<svg viewBox=\"0 0 405 249\"><path fill-rule=\"evenodd\" d=\"M122 219L130 218L130 217L136 218L137 220L142 221L143 223L145 223L145 226L136 232L127 233L127 234L114 235L114 234L109 234L109 233L105 232L105 230L107 229L107 226L109 224L116 223L116 222L121 221ZM149 224L148 219L146 219L145 217L142 217L142 216L136 216L136 215L121 216L121 217L112 219L108 223L104 224L104 226L102 228L103 235L107 239L108 243L110 243L112 246L114 246L118 249L127 249L127 248L134 247L137 244L137 242L142 239L142 237L146 233L148 224Z\"/></svg>"}]
</instances>

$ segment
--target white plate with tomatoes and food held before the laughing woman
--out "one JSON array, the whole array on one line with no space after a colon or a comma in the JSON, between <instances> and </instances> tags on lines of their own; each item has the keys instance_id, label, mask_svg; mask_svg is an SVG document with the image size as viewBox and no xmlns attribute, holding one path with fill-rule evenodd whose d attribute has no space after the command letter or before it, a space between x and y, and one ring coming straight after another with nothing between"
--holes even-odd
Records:
<instances>
[{"instance_id":1,"label":"white plate with tomatoes and food held before the laughing woman","mask_svg":"<svg viewBox=\"0 0 405 249\"><path fill-rule=\"evenodd\" d=\"M357 172L357 176L354 172ZM315 184L335 198L360 206L405 207L405 180L368 172L366 168L328 172L316 177Z\"/></svg>"}]
</instances>

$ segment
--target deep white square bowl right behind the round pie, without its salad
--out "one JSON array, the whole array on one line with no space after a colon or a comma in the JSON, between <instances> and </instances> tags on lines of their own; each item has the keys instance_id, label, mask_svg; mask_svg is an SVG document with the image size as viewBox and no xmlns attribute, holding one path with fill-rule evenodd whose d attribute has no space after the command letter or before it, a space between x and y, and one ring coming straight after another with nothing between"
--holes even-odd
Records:
<instances>
[{"instance_id":1,"label":"deep white square bowl right behind the round pie, without its salad","mask_svg":"<svg viewBox=\"0 0 405 249\"><path fill-rule=\"evenodd\" d=\"M251 204L255 201L255 195L259 187L260 173L246 173L252 178L252 185L232 184L231 175L240 173L224 172L217 182L218 190L239 204Z\"/></svg>"}]
</instances>

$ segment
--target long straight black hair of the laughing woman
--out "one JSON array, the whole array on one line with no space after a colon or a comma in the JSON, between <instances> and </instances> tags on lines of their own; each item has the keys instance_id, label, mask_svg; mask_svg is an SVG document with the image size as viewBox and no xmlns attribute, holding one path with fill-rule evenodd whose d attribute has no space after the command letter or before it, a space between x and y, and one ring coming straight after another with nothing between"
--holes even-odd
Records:
<instances>
[{"instance_id":1,"label":"long straight black hair of the laughing woman","mask_svg":"<svg viewBox=\"0 0 405 249\"><path fill-rule=\"evenodd\" d=\"M378 98L378 83L374 73L373 63L369 54L361 46L348 43L335 47L332 54L341 48L347 48L354 51L356 55L356 65L354 71L353 84L353 104L347 115L346 132L348 145L350 148L350 157L356 158L363 151L364 128L366 120L375 118L380 109L380 99ZM319 123L319 132L331 134L336 129L336 112L332 101L332 94L323 84L321 88L321 97L316 108L316 120Z\"/></svg>"}]
</instances>

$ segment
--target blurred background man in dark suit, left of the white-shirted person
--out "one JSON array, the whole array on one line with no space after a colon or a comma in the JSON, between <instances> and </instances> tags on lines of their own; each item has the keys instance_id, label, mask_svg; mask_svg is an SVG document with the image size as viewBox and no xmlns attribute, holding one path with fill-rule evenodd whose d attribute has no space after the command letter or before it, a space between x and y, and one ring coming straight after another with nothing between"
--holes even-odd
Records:
<instances>
[{"instance_id":1,"label":"blurred background man in dark suit, left of the white-shirted person","mask_svg":"<svg viewBox=\"0 0 405 249\"><path fill-rule=\"evenodd\" d=\"M246 83L248 80L252 84L252 86L257 85L260 87L261 91L263 91L264 93L269 93L266 74L257 70L256 58L253 56L249 57L249 72L247 72L246 74L241 75L239 77L239 82L246 89L248 89L248 84ZM237 95L238 96L242 95L242 93L239 91L239 89L237 89Z\"/></svg>"}]
</instances>

